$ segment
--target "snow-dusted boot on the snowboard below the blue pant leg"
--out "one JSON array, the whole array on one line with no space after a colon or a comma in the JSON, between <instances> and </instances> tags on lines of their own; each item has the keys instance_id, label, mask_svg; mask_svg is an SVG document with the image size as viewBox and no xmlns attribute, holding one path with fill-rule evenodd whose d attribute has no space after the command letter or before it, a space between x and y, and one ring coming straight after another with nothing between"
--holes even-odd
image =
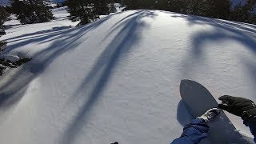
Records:
<instances>
[{"instance_id":1,"label":"snow-dusted boot on the snowboard below the blue pant leg","mask_svg":"<svg viewBox=\"0 0 256 144\"><path fill-rule=\"evenodd\" d=\"M222 110L218 108L212 108L210 110L207 110L205 114L202 114L198 118L202 118L205 120L205 122L211 122L214 120L214 118L217 118L219 114L222 114Z\"/></svg>"}]
</instances>

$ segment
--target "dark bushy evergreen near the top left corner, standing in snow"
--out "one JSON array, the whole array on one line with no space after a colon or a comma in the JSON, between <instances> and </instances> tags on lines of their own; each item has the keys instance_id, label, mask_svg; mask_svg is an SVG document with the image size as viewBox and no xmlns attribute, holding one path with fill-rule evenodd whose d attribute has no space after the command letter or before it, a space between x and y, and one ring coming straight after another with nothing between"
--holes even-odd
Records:
<instances>
[{"instance_id":1,"label":"dark bushy evergreen near the top left corner, standing in snow","mask_svg":"<svg viewBox=\"0 0 256 144\"><path fill-rule=\"evenodd\" d=\"M44 0L11 0L11 9L22 24L50 22L54 19Z\"/></svg>"}]
</instances>

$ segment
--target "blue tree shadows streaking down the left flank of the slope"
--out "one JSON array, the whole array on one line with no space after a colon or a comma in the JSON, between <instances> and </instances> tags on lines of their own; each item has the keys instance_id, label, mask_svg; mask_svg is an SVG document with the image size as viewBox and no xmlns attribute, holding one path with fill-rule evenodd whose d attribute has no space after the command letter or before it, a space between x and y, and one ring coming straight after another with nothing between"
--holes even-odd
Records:
<instances>
[{"instance_id":1,"label":"blue tree shadows streaking down the left flank of the slope","mask_svg":"<svg viewBox=\"0 0 256 144\"><path fill-rule=\"evenodd\" d=\"M10 77L3 75L0 77L2 82L0 86L0 110L6 110L14 103L18 102L26 91L30 82L37 78L38 74L42 73L49 66L55 58L58 58L61 54L70 49L75 49L86 38L79 41L79 38L94 30L102 23L106 22L110 17L102 18L97 22L92 22L86 26L79 26L68 30L56 29L54 33L43 34L42 36L35 36L40 32L34 34L24 34L23 37L28 37L27 40L18 42L11 46L6 46L6 54L11 50L18 49L20 46L25 46L30 43L40 43L44 41L53 41L53 37L58 40L53 42L49 47L44 50L39 50L37 54L34 54L32 61L27 62L24 66L15 71L14 74L10 74ZM62 28L61 28L62 29ZM20 37L22 38L22 37ZM35 47L36 48L36 47ZM8 71L6 71L8 73Z\"/></svg>"}]
</instances>

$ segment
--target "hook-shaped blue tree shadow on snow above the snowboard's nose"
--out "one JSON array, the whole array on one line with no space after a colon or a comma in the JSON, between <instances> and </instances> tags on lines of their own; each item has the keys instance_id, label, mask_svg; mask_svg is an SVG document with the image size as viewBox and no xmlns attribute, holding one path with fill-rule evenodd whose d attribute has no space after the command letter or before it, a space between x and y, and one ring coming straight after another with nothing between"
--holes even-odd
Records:
<instances>
[{"instance_id":1,"label":"hook-shaped blue tree shadow on snow above the snowboard's nose","mask_svg":"<svg viewBox=\"0 0 256 144\"><path fill-rule=\"evenodd\" d=\"M203 62L205 56L203 45L206 42L214 42L216 44L226 41L239 42L242 44L241 48L249 49L256 54L256 26L254 25L185 14L174 14L172 17L186 19L189 26L212 26L209 29L200 30L191 35L191 50L187 52L187 57L183 61L186 63L182 64L183 77L190 76L191 71L196 69L195 63ZM225 46L222 46L222 48L225 50Z\"/></svg>"}]
</instances>

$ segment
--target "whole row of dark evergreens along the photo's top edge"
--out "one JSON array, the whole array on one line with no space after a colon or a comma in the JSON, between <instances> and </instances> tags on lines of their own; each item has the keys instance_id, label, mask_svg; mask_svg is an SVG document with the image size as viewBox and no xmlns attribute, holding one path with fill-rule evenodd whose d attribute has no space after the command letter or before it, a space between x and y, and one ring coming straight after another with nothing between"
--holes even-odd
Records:
<instances>
[{"instance_id":1,"label":"whole row of dark evergreens along the photo's top edge","mask_svg":"<svg viewBox=\"0 0 256 144\"><path fill-rule=\"evenodd\" d=\"M256 24L256 0L246 0L231 8L231 0L66 0L70 20L79 25L94 22L100 15L115 12L114 3L124 10L166 10L181 14L247 22ZM50 0L10 0L11 6L4 7L7 13L15 14L22 24L50 22L54 16L47 2ZM0 28L2 18L0 13Z\"/></svg>"}]
</instances>

